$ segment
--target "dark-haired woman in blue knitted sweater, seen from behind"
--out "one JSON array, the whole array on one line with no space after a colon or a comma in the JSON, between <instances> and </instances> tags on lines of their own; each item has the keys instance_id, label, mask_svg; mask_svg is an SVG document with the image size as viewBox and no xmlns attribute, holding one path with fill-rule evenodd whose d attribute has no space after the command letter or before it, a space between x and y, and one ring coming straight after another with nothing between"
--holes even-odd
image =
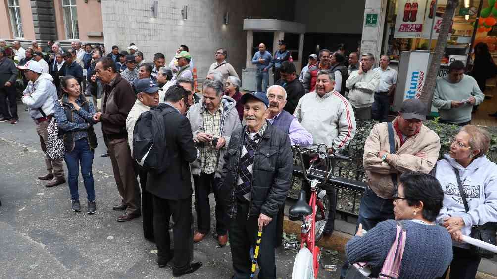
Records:
<instances>
[{"instance_id":1,"label":"dark-haired woman in blue knitted sweater, seen from behind","mask_svg":"<svg viewBox=\"0 0 497 279\"><path fill-rule=\"evenodd\" d=\"M407 238L402 255L402 279L433 279L441 276L452 260L452 241L447 230L436 225L442 208L443 192L438 181L421 172L403 173L394 195L394 216L406 229ZM395 241L394 220L378 223L367 232L362 224L345 245L349 263L366 262L371 277L377 278L387 254ZM355 267L349 267L350 269Z\"/></svg>"}]
</instances>

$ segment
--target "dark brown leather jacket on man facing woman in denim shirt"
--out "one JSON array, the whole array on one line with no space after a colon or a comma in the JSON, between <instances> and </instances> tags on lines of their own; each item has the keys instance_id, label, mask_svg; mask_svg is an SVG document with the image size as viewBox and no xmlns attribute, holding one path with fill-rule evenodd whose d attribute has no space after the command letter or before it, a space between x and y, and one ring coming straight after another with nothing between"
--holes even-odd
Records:
<instances>
[{"instance_id":1,"label":"dark brown leather jacket on man facing woman in denim shirt","mask_svg":"<svg viewBox=\"0 0 497 279\"><path fill-rule=\"evenodd\" d=\"M103 86L102 131L109 139L127 138L126 117L136 101L131 85L120 74Z\"/></svg>"}]
</instances>

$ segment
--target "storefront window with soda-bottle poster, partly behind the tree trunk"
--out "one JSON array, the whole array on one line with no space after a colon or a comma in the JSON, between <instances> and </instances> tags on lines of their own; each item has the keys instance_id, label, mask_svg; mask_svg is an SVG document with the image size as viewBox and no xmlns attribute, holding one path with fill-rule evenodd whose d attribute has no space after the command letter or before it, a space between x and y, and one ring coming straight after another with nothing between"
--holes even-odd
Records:
<instances>
[{"instance_id":1,"label":"storefront window with soda-bottle poster, partly behind the tree trunk","mask_svg":"<svg viewBox=\"0 0 497 279\"><path fill-rule=\"evenodd\" d=\"M436 2L435 6L435 0L389 0L382 53L389 55L392 60L399 60L403 51L433 51L437 39L441 39L438 38L438 30L447 0ZM480 2L480 0L460 1L453 17L450 34L446 38L447 47L440 61L442 65L453 60L463 60L466 63L472 46L472 36L476 32L475 20ZM484 7L486 5L487 1Z\"/></svg>"}]
</instances>

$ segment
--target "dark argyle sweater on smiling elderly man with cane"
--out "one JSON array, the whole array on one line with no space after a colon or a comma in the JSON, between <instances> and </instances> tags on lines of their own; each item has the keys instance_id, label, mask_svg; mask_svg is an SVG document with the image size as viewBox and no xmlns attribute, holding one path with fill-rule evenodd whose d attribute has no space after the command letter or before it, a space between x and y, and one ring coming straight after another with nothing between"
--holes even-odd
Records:
<instances>
[{"instance_id":1,"label":"dark argyle sweater on smiling elderly man with cane","mask_svg":"<svg viewBox=\"0 0 497 279\"><path fill-rule=\"evenodd\" d=\"M250 134L248 128L245 131L245 140L240 154L240 163L238 164L238 180L235 190L238 199L250 201L250 188L252 186L253 161L255 151L260 139L266 132L267 122L264 121L257 133Z\"/></svg>"}]
</instances>

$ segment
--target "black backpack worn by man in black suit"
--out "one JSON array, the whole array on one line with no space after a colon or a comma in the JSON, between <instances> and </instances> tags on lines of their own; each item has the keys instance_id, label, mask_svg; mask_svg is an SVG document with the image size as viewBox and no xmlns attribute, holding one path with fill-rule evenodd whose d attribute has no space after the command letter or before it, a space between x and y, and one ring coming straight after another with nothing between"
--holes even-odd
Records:
<instances>
[{"instance_id":1,"label":"black backpack worn by man in black suit","mask_svg":"<svg viewBox=\"0 0 497 279\"><path fill-rule=\"evenodd\" d=\"M133 157L148 171L162 173L169 167L167 160L166 125L164 104L142 112L133 131Z\"/></svg>"}]
</instances>

